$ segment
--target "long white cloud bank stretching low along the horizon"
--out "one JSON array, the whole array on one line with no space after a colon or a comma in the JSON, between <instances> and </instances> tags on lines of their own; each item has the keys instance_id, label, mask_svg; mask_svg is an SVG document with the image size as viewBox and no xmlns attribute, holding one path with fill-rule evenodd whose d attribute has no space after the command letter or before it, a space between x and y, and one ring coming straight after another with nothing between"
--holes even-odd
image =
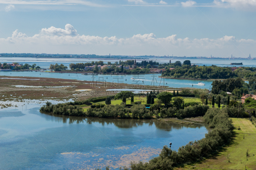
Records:
<instances>
[{"instance_id":1,"label":"long white cloud bank stretching low along the horizon","mask_svg":"<svg viewBox=\"0 0 256 170\"><path fill-rule=\"evenodd\" d=\"M242 43L242 44L241 44ZM174 55L236 57L256 56L256 41L224 36L218 39L189 39L170 35L157 38L153 33L137 34L130 38L79 35L67 24L65 29L49 27L39 34L27 36L15 30L11 37L0 38L3 53L59 53L97 55ZM92 49L90 47L92 47ZM18 47L18 49L17 49ZM239 49L237 49L238 47ZM241 52L242 51L242 52ZM246 55L245 55L246 54Z\"/></svg>"}]
</instances>

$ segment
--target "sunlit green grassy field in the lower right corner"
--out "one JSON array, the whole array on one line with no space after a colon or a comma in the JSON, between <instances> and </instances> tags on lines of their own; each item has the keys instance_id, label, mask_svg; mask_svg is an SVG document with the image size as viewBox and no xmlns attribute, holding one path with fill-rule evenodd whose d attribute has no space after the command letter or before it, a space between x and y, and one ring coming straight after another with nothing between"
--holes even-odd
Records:
<instances>
[{"instance_id":1,"label":"sunlit green grassy field in the lower right corner","mask_svg":"<svg viewBox=\"0 0 256 170\"><path fill-rule=\"evenodd\" d=\"M232 118L235 126L232 141L213 157L177 169L246 169L256 170L256 128L248 119ZM238 127L241 130L238 130ZM246 158L248 150L249 156ZM228 161L229 160L229 161Z\"/></svg>"}]
</instances>

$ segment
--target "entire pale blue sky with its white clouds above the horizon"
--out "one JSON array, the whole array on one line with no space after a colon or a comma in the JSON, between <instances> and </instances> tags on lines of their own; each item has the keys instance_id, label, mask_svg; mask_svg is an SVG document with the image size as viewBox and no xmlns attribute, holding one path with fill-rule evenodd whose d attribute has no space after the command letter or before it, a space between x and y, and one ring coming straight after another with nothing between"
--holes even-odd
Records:
<instances>
[{"instance_id":1,"label":"entire pale blue sky with its white clouds above the horizon","mask_svg":"<svg viewBox=\"0 0 256 170\"><path fill-rule=\"evenodd\" d=\"M0 52L255 57L255 12L255 0L0 0Z\"/></svg>"}]
</instances>

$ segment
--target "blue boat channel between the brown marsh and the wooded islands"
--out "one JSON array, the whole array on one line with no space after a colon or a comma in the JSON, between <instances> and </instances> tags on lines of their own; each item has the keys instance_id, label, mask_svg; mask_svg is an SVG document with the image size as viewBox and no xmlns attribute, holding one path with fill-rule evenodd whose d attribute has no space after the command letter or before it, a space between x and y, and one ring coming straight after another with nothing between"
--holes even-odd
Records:
<instances>
[{"instance_id":1,"label":"blue boat channel between the brown marsh and the wooded islands","mask_svg":"<svg viewBox=\"0 0 256 170\"><path fill-rule=\"evenodd\" d=\"M41 74L41 75L40 75ZM210 89L212 80L200 80L205 85L198 85L198 80L182 80L182 79L163 79L159 78L161 74L145 74L145 75L82 75L81 73L43 73L43 72L0 72L1 75L6 76L26 76L26 77L46 77L46 78L58 78L58 79L75 79L86 81L106 81L113 82L113 84L127 83L132 84L134 87L143 87L145 85L155 86L157 89L163 88L163 86L172 88L198 88L198 89ZM167 84L166 84L167 83ZM192 86L193 85L193 86ZM115 87L114 87L115 88Z\"/></svg>"}]
</instances>

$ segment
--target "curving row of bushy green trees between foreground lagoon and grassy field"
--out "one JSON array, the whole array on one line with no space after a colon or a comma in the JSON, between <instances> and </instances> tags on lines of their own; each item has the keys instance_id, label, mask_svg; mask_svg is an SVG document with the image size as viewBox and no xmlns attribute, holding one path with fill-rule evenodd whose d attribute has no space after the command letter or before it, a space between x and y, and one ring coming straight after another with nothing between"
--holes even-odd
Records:
<instances>
[{"instance_id":1,"label":"curving row of bushy green trees between foreground lagoon and grassy field","mask_svg":"<svg viewBox=\"0 0 256 170\"><path fill-rule=\"evenodd\" d=\"M211 156L230 141L234 126L227 111L217 108L208 109L204 115L204 121L213 128L205 135L205 138L189 142L181 146L178 151L164 146L158 157L148 162L132 162L130 168L124 167L123 170L168 170Z\"/></svg>"}]
</instances>

